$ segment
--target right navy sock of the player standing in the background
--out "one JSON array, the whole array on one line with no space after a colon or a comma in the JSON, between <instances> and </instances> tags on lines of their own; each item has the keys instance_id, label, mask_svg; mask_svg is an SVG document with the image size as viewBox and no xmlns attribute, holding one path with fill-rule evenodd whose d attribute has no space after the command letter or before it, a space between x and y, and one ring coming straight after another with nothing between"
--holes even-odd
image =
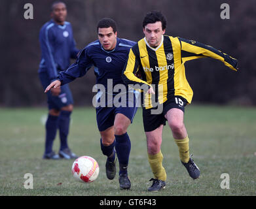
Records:
<instances>
[{"instance_id":1,"label":"right navy sock of the player standing in the background","mask_svg":"<svg viewBox=\"0 0 256 209\"><path fill-rule=\"evenodd\" d=\"M60 129L60 150L68 148L67 135L69 134L70 115L72 112L62 110L60 112L58 127Z\"/></svg>"}]
</instances>

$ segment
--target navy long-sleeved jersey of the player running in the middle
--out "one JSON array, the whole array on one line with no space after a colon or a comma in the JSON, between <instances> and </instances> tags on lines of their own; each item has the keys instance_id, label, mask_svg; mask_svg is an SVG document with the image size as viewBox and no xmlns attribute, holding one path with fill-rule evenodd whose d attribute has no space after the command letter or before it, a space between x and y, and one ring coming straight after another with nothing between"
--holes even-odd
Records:
<instances>
[{"instance_id":1,"label":"navy long-sleeved jersey of the player running in the middle","mask_svg":"<svg viewBox=\"0 0 256 209\"><path fill-rule=\"evenodd\" d=\"M62 82L62 85L67 84L75 78L84 76L94 65L97 84L103 84L105 89L107 89L107 79L113 80L113 86L124 84L122 69L130 48L135 44L134 41L117 38L116 47L111 51L106 51L100 41L96 40L81 50L76 63L73 63L67 71L60 72L58 80Z\"/></svg>"}]
</instances>

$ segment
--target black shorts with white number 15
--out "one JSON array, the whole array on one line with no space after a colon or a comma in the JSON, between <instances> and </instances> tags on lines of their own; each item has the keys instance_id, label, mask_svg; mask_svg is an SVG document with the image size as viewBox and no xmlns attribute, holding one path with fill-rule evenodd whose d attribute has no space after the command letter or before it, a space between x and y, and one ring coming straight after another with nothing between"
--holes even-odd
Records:
<instances>
[{"instance_id":1,"label":"black shorts with white number 15","mask_svg":"<svg viewBox=\"0 0 256 209\"><path fill-rule=\"evenodd\" d=\"M161 108L149 108L145 109L143 108L143 126L144 131L154 131L157 129L160 125L166 125L166 118L164 117L168 110L172 108L178 108L185 112L185 106L187 105L187 100L180 96L175 96L173 98L168 99L166 102L161 104ZM152 110L154 109L160 109L161 111L159 114L152 114Z\"/></svg>"}]
</instances>

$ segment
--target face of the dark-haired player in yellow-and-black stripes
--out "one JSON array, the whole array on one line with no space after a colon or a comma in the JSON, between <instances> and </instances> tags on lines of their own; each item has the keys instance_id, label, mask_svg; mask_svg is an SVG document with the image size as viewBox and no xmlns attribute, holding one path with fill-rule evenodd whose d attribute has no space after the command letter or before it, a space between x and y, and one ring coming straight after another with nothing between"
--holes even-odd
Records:
<instances>
[{"instance_id":1,"label":"face of the dark-haired player in yellow-and-black stripes","mask_svg":"<svg viewBox=\"0 0 256 209\"><path fill-rule=\"evenodd\" d=\"M143 33L145 34L146 40L149 46L158 46L162 40L162 35L166 30L162 29L162 22L158 21L153 24L147 24L143 28Z\"/></svg>"}]
</instances>

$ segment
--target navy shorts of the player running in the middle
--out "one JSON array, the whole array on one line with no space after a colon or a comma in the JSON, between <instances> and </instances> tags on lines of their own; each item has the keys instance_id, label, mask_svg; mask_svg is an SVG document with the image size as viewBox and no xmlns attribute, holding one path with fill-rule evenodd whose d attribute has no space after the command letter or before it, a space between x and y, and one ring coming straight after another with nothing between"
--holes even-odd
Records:
<instances>
[{"instance_id":1,"label":"navy shorts of the player running in the middle","mask_svg":"<svg viewBox=\"0 0 256 209\"><path fill-rule=\"evenodd\" d=\"M126 99L126 106L117 107L111 101L107 101L107 105L96 107L96 119L99 131L105 131L107 128L114 125L116 114L120 113L130 119L131 123L137 112L137 101L139 93L133 93L133 97ZM128 97L127 97L128 98Z\"/></svg>"}]
</instances>

